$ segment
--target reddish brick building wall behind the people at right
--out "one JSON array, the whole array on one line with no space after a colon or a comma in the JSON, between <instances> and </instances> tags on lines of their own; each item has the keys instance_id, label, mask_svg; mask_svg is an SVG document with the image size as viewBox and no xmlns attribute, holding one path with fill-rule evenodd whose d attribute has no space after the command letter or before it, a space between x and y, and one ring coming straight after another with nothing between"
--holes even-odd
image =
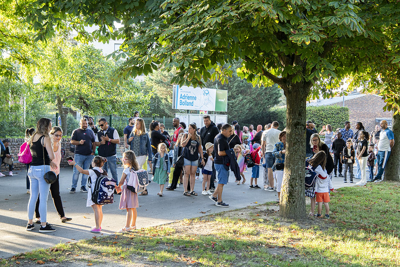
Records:
<instances>
[{"instance_id":1,"label":"reddish brick building wall behind the people at right","mask_svg":"<svg viewBox=\"0 0 400 267\"><path fill-rule=\"evenodd\" d=\"M337 105L337 103L332 105ZM377 95L364 95L355 99L345 100L344 106L348 107L349 110L351 129L354 130L355 124L361 122L365 130L370 133L375 129L376 118L391 118L393 113L383 111L384 105L382 98Z\"/></svg>"}]
</instances>

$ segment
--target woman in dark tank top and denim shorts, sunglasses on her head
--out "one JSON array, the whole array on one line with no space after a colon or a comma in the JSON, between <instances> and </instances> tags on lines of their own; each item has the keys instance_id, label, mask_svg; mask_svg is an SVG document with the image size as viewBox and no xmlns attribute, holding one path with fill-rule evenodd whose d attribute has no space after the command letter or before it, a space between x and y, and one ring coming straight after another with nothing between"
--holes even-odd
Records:
<instances>
[{"instance_id":1,"label":"woman in dark tank top and denim shorts, sunglasses on her head","mask_svg":"<svg viewBox=\"0 0 400 267\"><path fill-rule=\"evenodd\" d=\"M203 159L203 149L201 146L201 139L197 135L197 127L195 124L189 124L189 133L184 134L182 136L182 147L183 147L183 165L185 168L184 177L183 177L183 195L197 196L197 193L194 191L194 183L195 183L195 175L196 169L199 163L199 155L201 164L204 166ZM187 191L188 181L190 175L190 192Z\"/></svg>"}]
</instances>

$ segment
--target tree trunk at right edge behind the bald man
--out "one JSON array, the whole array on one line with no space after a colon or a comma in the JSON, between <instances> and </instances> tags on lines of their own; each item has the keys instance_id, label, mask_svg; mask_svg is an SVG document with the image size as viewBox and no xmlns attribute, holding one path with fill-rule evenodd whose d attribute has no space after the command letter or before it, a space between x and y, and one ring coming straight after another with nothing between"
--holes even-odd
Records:
<instances>
[{"instance_id":1,"label":"tree trunk at right edge behind the bald man","mask_svg":"<svg viewBox=\"0 0 400 267\"><path fill-rule=\"evenodd\" d=\"M394 146L391 148L389 159L384 170L385 181L400 181L400 114L393 116L392 128Z\"/></svg>"}]
</instances>

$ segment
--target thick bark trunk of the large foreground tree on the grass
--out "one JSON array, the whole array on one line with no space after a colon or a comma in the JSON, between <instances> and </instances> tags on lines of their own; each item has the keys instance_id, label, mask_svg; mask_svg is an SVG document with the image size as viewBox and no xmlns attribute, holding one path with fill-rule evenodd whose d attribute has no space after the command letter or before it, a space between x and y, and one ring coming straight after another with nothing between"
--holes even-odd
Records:
<instances>
[{"instance_id":1,"label":"thick bark trunk of the large foreground tree on the grass","mask_svg":"<svg viewBox=\"0 0 400 267\"><path fill-rule=\"evenodd\" d=\"M309 87L293 84L286 96L286 154L280 195L280 215L291 219L305 217L305 122Z\"/></svg>"}]
</instances>

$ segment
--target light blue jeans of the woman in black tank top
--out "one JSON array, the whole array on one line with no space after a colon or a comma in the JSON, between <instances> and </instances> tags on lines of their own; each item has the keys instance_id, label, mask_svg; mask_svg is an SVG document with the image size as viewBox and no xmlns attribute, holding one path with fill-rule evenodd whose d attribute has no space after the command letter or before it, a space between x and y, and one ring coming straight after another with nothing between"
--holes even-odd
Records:
<instances>
[{"instance_id":1,"label":"light blue jeans of the woman in black tank top","mask_svg":"<svg viewBox=\"0 0 400 267\"><path fill-rule=\"evenodd\" d=\"M28 202L28 219L34 218L36 200L40 194L39 212L41 221L47 221L47 197L49 196L50 183L45 181L43 176L50 171L50 165L31 166L28 176L31 181L31 196Z\"/></svg>"}]
</instances>

